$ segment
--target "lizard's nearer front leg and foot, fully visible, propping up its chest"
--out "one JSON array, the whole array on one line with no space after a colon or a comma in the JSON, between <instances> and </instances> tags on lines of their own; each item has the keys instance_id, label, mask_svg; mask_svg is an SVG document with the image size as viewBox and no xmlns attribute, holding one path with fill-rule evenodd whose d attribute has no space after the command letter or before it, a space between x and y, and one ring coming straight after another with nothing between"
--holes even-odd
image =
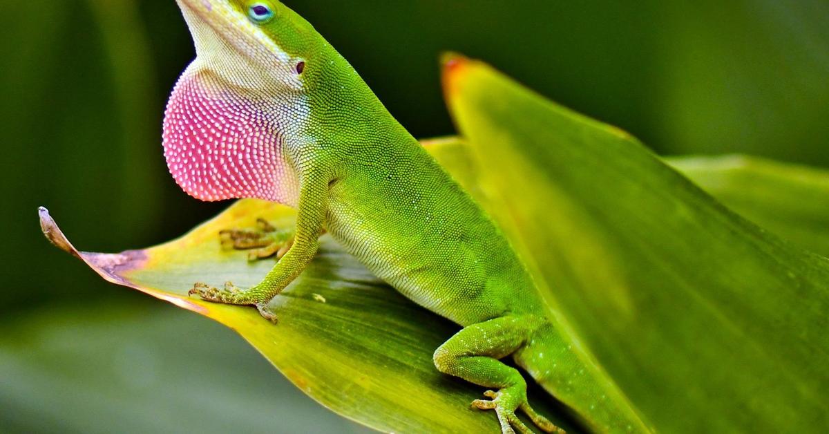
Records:
<instances>
[{"instance_id":1,"label":"lizard's nearer front leg and foot, fully visible, propping up its chest","mask_svg":"<svg viewBox=\"0 0 829 434\"><path fill-rule=\"evenodd\" d=\"M276 315L268 303L288 286L308 266L319 247L327 211L328 183L330 179L316 176L307 177L299 193L297 226L293 244L288 248L264 280L246 290L230 282L224 289L203 283L196 283L190 295L199 295L204 300L230 305L255 305L259 313L269 321L276 322Z\"/></svg>"}]
</instances>

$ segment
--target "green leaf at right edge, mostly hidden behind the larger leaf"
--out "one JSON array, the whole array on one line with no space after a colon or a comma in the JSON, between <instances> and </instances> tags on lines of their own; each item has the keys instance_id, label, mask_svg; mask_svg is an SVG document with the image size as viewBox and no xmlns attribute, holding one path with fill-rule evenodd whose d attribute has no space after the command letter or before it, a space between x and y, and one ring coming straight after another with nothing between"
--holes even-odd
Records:
<instances>
[{"instance_id":1,"label":"green leaf at right edge, mostly hidden behind the larger leaf","mask_svg":"<svg viewBox=\"0 0 829 434\"><path fill-rule=\"evenodd\" d=\"M742 155L666 161L761 227L829 256L826 170Z\"/></svg>"}]
</instances>

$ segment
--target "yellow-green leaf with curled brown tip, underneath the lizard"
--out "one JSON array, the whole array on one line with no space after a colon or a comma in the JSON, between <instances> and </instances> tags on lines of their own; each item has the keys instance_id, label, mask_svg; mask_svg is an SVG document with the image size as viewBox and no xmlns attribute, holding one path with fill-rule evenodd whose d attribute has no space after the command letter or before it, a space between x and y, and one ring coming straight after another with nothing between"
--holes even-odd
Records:
<instances>
[{"instance_id":1,"label":"yellow-green leaf with curled brown tip, underneath the lizard","mask_svg":"<svg viewBox=\"0 0 829 434\"><path fill-rule=\"evenodd\" d=\"M434 349L458 326L403 298L328 237L322 238L311 266L271 302L279 324L251 307L187 296L196 281L255 285L273 266L273 261L249 263L243 251L223 251L221 229L255 227L257 217L291 227L293 215L271 202L242 200L180 239L118 254L76 251L42 208L41 227L56 246L104 279L234 329L304 393L342 416L387 432L498 432L494 414L469 405L484 389L440 374L432 363ZM203 381L212 380L205 376ZM578 432L556 417L561 410L545 393L533 391L531 401L568 431ZM313 427L308 421L308 430Z\"/></svg>"}]
</instances>

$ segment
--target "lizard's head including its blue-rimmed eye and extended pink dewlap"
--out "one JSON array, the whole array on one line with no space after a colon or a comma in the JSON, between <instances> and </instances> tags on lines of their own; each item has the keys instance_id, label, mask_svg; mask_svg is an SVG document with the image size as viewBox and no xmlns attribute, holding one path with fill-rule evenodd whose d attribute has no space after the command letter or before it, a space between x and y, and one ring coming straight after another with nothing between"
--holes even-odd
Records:
<instances>
[{"instance_id":1,"label":"lizard's head including its blue-rimmed eye and extended pink dewlap","mask_svg":"<svg viewBox=\"0 0 829 434\"><path fill-rule=\"evenodd\" d=\"M276 1L177 0L196 59L164 117L167 167L201 200L259 197L295 205L292 147L308 141L309 90L335 52Z\"/></svg>"}]
</instances>

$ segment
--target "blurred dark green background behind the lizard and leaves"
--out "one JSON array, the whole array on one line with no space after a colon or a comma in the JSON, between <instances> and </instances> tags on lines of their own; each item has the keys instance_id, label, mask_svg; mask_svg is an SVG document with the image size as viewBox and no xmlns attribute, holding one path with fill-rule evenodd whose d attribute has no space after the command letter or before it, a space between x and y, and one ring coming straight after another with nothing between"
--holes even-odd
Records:
<instances>
[{"instance_id":1,"label":"blurred dark green background behind the lizard and leaves","mask_svg":"<svg viewBox=\"0 0 829 434\"><path fill-rule=\"evenodd\" d=\"M417 137L453 133L437 58L454 50L660 154L829 165L825 0L285 3ZM162 158L193 56L175 2L7 1L0 28L0 431L358 430L230 330L104 283L37 227L44 205L82 250L121 251L226 206L187 197Z\"/></svg>"}]
</instances>

